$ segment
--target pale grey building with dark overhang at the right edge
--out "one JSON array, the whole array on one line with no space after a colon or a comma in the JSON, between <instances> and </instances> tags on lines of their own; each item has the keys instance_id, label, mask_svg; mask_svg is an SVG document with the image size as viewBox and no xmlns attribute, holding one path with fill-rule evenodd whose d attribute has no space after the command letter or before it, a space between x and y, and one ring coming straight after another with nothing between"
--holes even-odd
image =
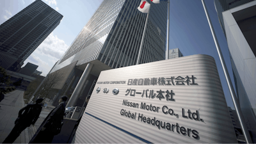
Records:
<instances>
[{"instance_id":1,"label":"pale grey building with dark overhang at the right edge","mask_svg":"<svg viewBox=\"0 0 256 144\"><path fill-rule=\"evenodd\" d=\"M239 106L256 143L256 1L214 3L227 38ZM234 7L223 8L225 3Z\"/></svg>"}]
</instances>

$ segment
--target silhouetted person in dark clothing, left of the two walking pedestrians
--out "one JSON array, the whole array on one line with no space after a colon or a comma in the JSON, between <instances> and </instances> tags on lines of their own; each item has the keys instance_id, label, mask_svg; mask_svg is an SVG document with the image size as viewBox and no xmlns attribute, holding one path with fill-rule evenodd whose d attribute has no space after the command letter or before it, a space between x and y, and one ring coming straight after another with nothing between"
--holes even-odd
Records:
<instances>
[{"instance_id":1,"label":"silhouetted person in dark clothing, left of the two walking pedestrians","mask_svg":"<svg viewBox=\"0 0 256 144\"><path fill-rule=\"evenodd\" d=\"M17 120L15 120L15 126L3 143L13 143L13 141L19 137L20 133L26 129L26 127L35 125L36 120L42 111L43 100L44 99L42 98L37 99L35 104L28 104L24 108L20 109L19 116Z\"/></svg>"}]
</instances>

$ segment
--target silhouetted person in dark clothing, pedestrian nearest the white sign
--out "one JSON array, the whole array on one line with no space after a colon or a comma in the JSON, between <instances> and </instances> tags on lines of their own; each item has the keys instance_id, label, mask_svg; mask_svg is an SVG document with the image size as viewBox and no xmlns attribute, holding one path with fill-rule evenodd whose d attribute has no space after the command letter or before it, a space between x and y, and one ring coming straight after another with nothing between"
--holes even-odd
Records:
<instances>
[{"instance_id":1,"label":"silhouetted person in dark clothing, pedestrian nearest the white sign","mask_svg":"<svg viewBox=\"0 0 256 144\"><path fill-rule=\"evenodd\" d=\"M29 143L51 143L53 137L60 133L67 99L67 96L60 98L60 104L52 109Z\"/></svg>"}]
</instances>

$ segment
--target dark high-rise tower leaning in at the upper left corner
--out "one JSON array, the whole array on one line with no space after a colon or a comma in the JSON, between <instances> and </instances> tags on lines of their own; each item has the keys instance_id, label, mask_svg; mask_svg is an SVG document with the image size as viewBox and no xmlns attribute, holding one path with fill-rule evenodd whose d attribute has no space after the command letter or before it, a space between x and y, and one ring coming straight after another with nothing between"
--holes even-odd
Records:
<instances>
[{"instance_id":1,"label":"dark high-rise tower leaning in at the upper left corner","mask_svg":"<svg viewBox=\"0 0 256 144\"><path fill-rule=\"evenodd\" d=\"M0 66L19 69L60 24L63 15L36 0L0 26Z\"/></svg>"}]
</instances>

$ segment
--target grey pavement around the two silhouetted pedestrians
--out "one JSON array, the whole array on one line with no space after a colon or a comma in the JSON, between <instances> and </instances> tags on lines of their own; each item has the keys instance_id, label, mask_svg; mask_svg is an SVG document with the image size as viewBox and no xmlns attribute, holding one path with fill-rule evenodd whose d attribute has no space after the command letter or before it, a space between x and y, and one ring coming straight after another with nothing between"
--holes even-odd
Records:
<instances>
[{"instance_id":1,"label":"grey pavement around the two silhouetted pedestrians","mask_svg":"<svg viewBox=\"0 0 256 144\"><path fill-rule=\"evenodd\" d=\"M23 99L24 91L15 90L4 95L4 99L0 102L0 143L12 131L14 122L19 114L19 110L26 106ZM42 124L46 116L51 112L54 106L47 103L47 108L43 108L34 127L28 127L21 132L20 136L13 143L29 143L38 127Z\"/></svg>"}]
</instances>

